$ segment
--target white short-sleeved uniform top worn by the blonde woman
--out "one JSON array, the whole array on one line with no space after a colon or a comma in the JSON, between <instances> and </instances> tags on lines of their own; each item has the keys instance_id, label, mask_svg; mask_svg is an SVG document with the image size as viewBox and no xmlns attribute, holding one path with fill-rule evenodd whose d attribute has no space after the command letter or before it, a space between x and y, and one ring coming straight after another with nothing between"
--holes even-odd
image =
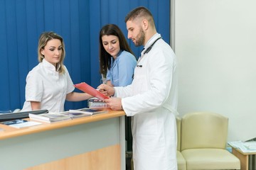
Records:
<instances>
[{"instance_id":1,"label":"white short-sleeved uniform top worn by the blonde woman","mask_svg":"<svg viewBox=\"0 0 256 170\"><path fill-rule=\"evenodd\" d=\"M53 64L43 60L26 77L26 101L22 111L31 111L30 101L38 101L42 110L62 112L66 95L74 89L66 67L65 73L59 74Z\"/></svg>"}]
</instances>

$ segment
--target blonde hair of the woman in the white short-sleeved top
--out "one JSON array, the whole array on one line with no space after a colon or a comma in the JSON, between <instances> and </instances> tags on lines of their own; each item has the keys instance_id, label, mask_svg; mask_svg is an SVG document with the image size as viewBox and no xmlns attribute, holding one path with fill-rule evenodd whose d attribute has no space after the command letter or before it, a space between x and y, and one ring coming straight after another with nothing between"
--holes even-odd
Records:
<instances>
[{"instance_id":1,"label":"blonde hair of the woman in the white short-sleeved top","mask_svg":"<svg viewBox=\"0 0 256 170\"><path fill-rule=\"evenodd\" d=\"M64 64L63 64L64 58L65 58L64 41L63 41L63 38L60 35L52 32L52 31L45 32L45 33L42 33L40 35L40 38L39 38L39 41L38 41L38 62L42 62L43 58L44 58L44 56L41 54L41 49L44 49L47 42L49 40L53 40L53 39L58 39L61 42L61 47L62 47L63 52L61 53L60 62L58 62L57 67L59 67L58 72L60 74L64 74L65 73L65 67L64 67Z\"/></svg>"}]
</instances>

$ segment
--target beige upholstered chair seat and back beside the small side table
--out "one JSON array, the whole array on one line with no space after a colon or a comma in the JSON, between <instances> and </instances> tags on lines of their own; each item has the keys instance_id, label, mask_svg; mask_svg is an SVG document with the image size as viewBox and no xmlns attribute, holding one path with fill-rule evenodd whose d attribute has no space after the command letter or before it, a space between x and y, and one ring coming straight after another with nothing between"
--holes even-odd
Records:
<instances>
[{"instance_id":1,"label":"beige upholstered chair seat and back beside the small side table","mask_svg":"<svg viewBox=\"0 0 256 170\"><path fill-rule=\"evenodd\" d=\"M181 154L186 169L240 169L225 149L228 118L217 113L188 113L181 120Z\"/></svg>"}]
</instances>

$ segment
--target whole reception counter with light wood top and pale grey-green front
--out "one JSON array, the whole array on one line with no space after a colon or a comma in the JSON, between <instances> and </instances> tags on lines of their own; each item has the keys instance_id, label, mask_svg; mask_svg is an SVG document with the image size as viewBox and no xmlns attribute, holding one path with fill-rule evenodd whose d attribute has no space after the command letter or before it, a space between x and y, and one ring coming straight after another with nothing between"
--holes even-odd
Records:
<instances>
[{"instance_id":1,"label":"whole reception counter with light wood top and pale grey-green front","mask_svg":"<svg viewBox=\"0 0 256 170\"><path fill-rule=\"evenodd\" d=\"M108 111L20 129L0 124L0 169L124 170L124 115Z\"/></svg>"}]
</instances>

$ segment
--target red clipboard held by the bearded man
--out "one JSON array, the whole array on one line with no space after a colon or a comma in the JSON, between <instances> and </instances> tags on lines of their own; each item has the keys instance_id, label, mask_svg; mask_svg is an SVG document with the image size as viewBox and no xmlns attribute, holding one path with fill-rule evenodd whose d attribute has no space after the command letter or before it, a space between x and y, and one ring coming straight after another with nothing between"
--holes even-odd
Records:
<instances>
[{"instance_id":1,"label":"red clipboard held by the bearded man","mask_svg":"<svg viewBox=\"0 0 256 170\"><path fill-rule=\"evenodd\" d=\"M101 100L104 100L105 98L109 98L108 96L105 96L104 94L100 93L100 91L97 91L92 86L84 82L80 84L74 84L74 86L75 88L80 89L80 91L83 91L87 94L100 98Z\"/></svg>"}]
</instances>

